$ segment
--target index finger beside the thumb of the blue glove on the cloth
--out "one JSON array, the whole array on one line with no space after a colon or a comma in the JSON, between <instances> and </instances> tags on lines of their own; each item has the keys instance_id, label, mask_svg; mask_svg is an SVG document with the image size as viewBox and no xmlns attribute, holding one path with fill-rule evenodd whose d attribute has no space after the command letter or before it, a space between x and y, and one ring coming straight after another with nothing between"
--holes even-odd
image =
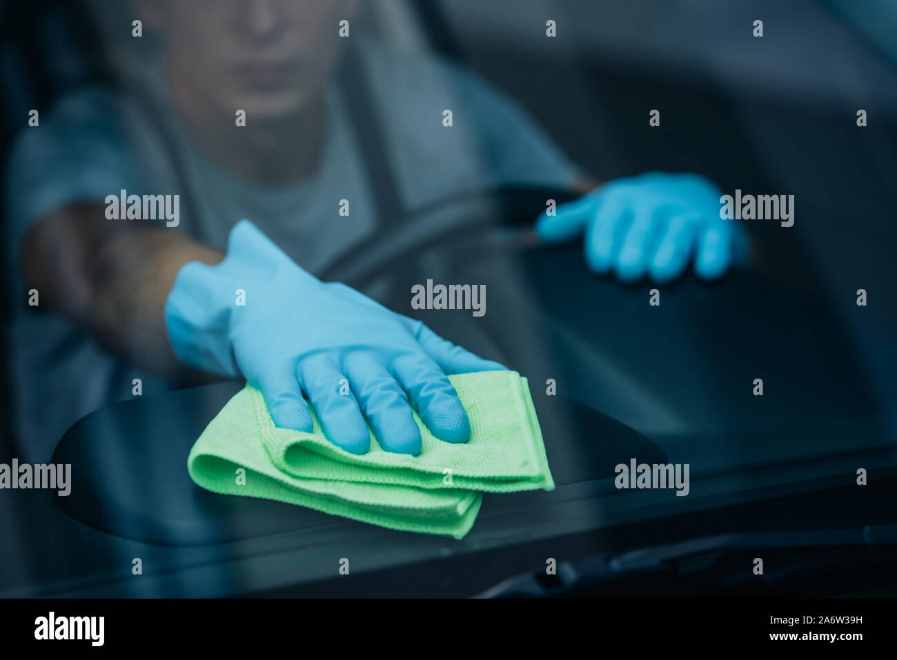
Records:
<instances>
[{"instance_id":1,"label":"index finger beside the thumb of the blue glove on the cloth","mask_svg":"<svg viewBox=\"0 0 897 660\"><path fill-rule=\"evenodd\" d=\"M442 369L422 352L393 361L393 374L431 433L446 442L470 439L470 421Z\"/></svg>"}]
</instances>

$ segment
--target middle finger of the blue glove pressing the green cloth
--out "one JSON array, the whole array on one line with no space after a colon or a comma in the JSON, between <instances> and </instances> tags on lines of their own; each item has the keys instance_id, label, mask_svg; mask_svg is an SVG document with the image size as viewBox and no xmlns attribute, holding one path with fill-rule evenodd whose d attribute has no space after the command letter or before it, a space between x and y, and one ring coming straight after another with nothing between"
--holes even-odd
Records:
<instances>
[{"instance_id":1,"label":"middle finger of the blue glove pressing the green cloth","mask_svg":"<svg viewBox=\"0 0 897 660\"><path fill-rule=\"evenodd\" d=\"M373 353L353 352L344 369L380 446L397 454L420 454L421 431L408 397L383 363Z\"/></svg>"}]
</instances>

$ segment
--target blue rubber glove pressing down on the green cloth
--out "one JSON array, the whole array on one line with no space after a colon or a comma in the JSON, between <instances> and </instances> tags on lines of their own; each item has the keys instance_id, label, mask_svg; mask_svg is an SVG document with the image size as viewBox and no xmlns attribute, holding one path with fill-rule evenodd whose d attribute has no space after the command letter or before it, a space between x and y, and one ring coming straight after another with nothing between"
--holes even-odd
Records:
<instances>
[{"instance_id":1,"label":"blue rubber glove pressing down on the green cloth","mask_svg":"<svg viewBox=\"0 0 897 660\"><path fill-rule=\"evenodd\" d=\"M365 419L388 451L419 454L409 400L437 438L466 442L470 423L446 374L504 369L344 284L320 282L246 220L221 264L180 269L165 321L185 364L242 374L286 429L312 428L304 392L327 438L354 454L370 447Z\"/></svg>"}]
</instances>

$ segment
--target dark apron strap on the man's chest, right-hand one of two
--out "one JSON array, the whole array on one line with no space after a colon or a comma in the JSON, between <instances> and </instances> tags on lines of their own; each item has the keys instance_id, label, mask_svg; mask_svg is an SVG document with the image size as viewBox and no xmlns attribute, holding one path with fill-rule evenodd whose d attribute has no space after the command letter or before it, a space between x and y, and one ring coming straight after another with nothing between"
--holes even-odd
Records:
<instances>
[{"instance_id":1,"label":"dark apron strap on the man's chest, right-hand one of two","mask_svg":"<svg viewBox=\"0 0 897 660\"><path fill-rule=\"evenodd\" d=\"M336 79L343 92L370 191L377 204L379 226L395 226L405 217L405 204L402 203L395 169L384 140L387 123L371 90L370 78L358 47L353 45L346 49Z\"/></svg>"}]
</instances>

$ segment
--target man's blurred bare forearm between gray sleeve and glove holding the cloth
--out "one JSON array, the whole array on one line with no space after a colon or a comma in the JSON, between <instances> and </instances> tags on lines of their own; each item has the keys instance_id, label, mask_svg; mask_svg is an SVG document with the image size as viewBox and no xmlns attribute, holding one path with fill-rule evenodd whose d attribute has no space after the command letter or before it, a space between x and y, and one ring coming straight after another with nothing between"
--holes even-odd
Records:
<instances>
[{"instance_id":1,"label":"man's blurred bare forearm between gray sleeve and glove holding the cloth","mask_svg":"<svg viewBox=\"0 0 897 660\"><path fill-rule=\"evenodd\" d=\"M41 221L24 245L24 268L41 299L86 327L109 350L164 375L186 369L171 351L165 300L189 261L222 254L162 229L114 228L101 207L66 208Z\"/></svg>"}]
</instances>

